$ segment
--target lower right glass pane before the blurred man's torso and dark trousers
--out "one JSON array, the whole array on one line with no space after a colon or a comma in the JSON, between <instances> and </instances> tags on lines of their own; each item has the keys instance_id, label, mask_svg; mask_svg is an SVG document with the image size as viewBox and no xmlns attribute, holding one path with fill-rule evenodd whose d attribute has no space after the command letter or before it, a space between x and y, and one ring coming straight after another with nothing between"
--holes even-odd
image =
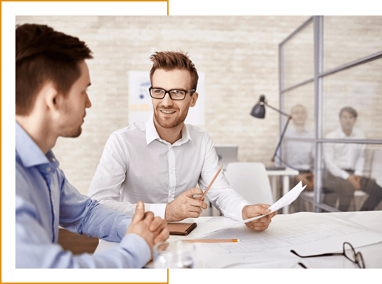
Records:
<instances>
[{"instance_id":1,"label":"lower right glass pane before the blurred man's torso and dark trousers","mask_svg":"<svg viewBox=\"0 0 382 284\"><path fill-rule=\"evenodd\" d=\"M322 203L340 211L382 210L382 145L324 143Z\"/></svg>"}]
</instances>

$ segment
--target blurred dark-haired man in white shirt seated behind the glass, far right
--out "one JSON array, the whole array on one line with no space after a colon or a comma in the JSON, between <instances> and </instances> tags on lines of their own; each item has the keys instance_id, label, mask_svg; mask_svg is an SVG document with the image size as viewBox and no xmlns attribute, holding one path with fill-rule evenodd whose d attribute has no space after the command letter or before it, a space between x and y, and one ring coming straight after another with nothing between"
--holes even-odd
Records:
<instances>
[{"instance_id":1,"label":"blurred dark-haired man in white shirt seated behind the glass, far right","mask_svg":"<svg viewBox=\"0 0 382 284\"><path fill-rule=\"evenodd\" d=\"M339 112L341 128L329 133L330 139L365 139L363 132L354 129L357 111L344 107ZM382 200L382 189L374 180L361 176L365 163L364 144L327 143L324 146L325 173L323 188L324 203L341 211L349 209L354 190L361 189L369 194L360 211L373 210Z\"/></svg>"}]
</instances>

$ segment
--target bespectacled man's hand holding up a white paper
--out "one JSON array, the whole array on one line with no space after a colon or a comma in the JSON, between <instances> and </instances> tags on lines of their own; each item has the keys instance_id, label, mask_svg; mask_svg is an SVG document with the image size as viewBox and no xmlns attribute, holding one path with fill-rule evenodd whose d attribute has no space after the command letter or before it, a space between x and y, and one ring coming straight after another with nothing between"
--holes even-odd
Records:
<instances>
[{"instance_id":1,"label":"bespectacled man's hand holding up a white paper","mask_svg":"<svg viewBox=\"0 0 382 284\"><path fill-rule=\"evenodd\" d=\"M242 211L243 220L270 213L268 204L256 204L244 206ZM271 218L277 215L277 211L260 219L246 223L246 226L255 231L264 231L268 228Z\"/></svg>"}]
</instances>

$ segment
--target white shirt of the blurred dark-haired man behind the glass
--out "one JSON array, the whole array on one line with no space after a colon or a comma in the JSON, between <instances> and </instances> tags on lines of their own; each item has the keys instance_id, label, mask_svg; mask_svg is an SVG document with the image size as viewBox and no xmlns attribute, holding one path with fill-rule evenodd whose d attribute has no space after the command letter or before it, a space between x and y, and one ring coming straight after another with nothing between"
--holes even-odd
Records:
<instances>
[{"instance_id":1,"label":"white shirt of the blurred dark-haired man behind the glass","mask_svg":"<svg viewBox=\"0 0 382 284\"><path fill-rule=\"evenodd\" d=\"M347 136L341 128L329 133L328 139L365 139L365 135L359 129L353 129L352 134ZM355 175L362 175L365 164L365 144L351 143L325 143L324 157L325 166L329 172L337 177L347 179L349 173L343 169L354 170Z\"/></svg>"}]
</instances>

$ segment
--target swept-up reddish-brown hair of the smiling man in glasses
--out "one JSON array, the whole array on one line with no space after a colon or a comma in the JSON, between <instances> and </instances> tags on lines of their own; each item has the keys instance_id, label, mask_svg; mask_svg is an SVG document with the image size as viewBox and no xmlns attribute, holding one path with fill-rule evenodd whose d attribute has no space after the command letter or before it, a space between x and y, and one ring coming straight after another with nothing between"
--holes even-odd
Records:
<instances>
[{"instance_id":1,"label":"swept-up reddish-brown hair of the smiling man in glasses","mask_svg":"<svg viewBox=\"0 0 382 284\"><path fill-rule=\"evenodd\" d=\"M150 56L151 61L154 62L150 71L150 81L153 82L153 74L157 69L164 70L188 70L191 74L191 88L195 89L198 85L198 71L196 71L194 63L188 58L187 53L175 51L159 51Z\"/></svg>"}]
</instances>

